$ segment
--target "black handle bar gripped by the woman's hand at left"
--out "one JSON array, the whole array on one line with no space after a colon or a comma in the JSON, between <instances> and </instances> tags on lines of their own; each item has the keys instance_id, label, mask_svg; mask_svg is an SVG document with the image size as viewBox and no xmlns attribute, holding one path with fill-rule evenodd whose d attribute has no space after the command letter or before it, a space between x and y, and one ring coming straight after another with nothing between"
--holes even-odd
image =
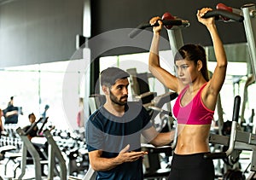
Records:
<instances>
[{"instance_id":1,"label":"black handle bar gripped by the woman's hand at left","mask_svg":"<svg viewBox=\"0 0 256 180\"><path fill-rule=\"evenodd\" d=\"M187 20L174 19L174 20L161 20L161 21L163 22L164 26L189 26L189 21ZM129 34L129 37L134 38L143 29L147 27L152 27L152 26L159 26L159 23L156 22L154 25L150 25L149 23L142 23L139 26L137 26L134 30L131 31L131 33Z\"/></svg>"}]
</instances>

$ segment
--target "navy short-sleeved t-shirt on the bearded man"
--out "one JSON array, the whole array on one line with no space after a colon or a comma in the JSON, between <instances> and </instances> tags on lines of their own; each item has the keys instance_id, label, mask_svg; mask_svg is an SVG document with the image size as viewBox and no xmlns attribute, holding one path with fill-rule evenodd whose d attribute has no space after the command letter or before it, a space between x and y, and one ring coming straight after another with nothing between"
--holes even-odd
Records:
<instances>
[{"instance_id":1,"label":"navy short-sleeved t-shirt on the bearded man","mask_svg":"<svg viewBox=\"0 0 256 180\"><path fill-rule=\"evenodd\" d=\"M141 133L151 127L146 109L138 102L128 102L122 117L114 116L104 107L90 115L86 124L86 144L90 151L102 149L102 157L116 157L130 144L129 151L141 150ZM97 171L96 179L142 180L143 159L126 162L109 171Z\"/></svg>"}]
</instances>

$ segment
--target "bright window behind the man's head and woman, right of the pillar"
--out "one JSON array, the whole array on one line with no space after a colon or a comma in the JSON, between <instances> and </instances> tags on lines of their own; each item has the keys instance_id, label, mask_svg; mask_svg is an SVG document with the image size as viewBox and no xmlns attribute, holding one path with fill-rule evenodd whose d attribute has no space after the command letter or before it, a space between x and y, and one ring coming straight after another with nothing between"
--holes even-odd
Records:
<instances>
[{"instance_id":1,"label":"bright window behind the man's head and woman, right of the pillar","mask_svg":"<svg viewBox=\"0 0 256 180\"><path fill-rule=\"evenodd\" d=\"M160 52L161 66L165 67L167 71L174 73L174 65L172 59L173 58L171 50ZM207 66L209 71L213 71L216 66L216 62L208 61ZM100 59L100 71L107 67L119 67L123 70L136 67L137 73L148 72L148 52L133 55L102 57ZM247 63L229 62L226 80L220 92L222 99L222 107L224 109L224 120L232 119L233 102L236 95L240 95L241 103L243 102L243 93L246 80ZM149 86L150 90L157 92L157 95L161 95L165 92L164 86L160 84L160 82L155 78L150 79ZM250 87L248 87L248 96L253 95L253 87L255 87L255 84L252 84ZM129 90L129 92L131 92L131 89ZM246 119L251 115L251 109L255 107L256 102L253 101L253 98L249 98L245 112ZM216 115L217 113L215 113L215 116ZM215 118L218 119L218 117Z\"/></svg>"}]
</instances>

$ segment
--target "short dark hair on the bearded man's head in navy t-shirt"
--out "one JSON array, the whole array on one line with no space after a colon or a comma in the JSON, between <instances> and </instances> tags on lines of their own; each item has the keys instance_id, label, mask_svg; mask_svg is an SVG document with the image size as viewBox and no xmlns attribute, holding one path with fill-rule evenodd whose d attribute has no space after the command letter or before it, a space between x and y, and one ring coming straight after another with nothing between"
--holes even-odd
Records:
<instances>
[{"instance_id":1,"label":"short dark hair on the bearded man's head in navy t-shirt","mask_svg":"<svg viewBox=\"0 0 256 180\"><path fill-rule=\"evenodd\" d=\"M112 86L118 79L127 78L130 74L118 67L108 67L101 73L101 85Z\"/></svg>"}]
</instances>

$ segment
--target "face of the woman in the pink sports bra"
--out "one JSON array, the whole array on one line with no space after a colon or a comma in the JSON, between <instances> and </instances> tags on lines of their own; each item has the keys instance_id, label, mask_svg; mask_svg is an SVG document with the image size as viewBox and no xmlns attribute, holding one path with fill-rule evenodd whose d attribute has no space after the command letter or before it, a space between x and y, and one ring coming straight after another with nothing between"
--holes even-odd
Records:
<instances>
[{"instance_id":1,"label":"face of the woman in the pink sports bra","mask_svg":"<svg viewBox=\"0 0 256 180\"><path fill-rule=\"evenodd\" d=\"M193 83L195 78L200 73L198 68L196 68L194 61L177 60L175 65L177 70L177 78L179 78L183 84Z\"/></svg>"}]
</instances>

